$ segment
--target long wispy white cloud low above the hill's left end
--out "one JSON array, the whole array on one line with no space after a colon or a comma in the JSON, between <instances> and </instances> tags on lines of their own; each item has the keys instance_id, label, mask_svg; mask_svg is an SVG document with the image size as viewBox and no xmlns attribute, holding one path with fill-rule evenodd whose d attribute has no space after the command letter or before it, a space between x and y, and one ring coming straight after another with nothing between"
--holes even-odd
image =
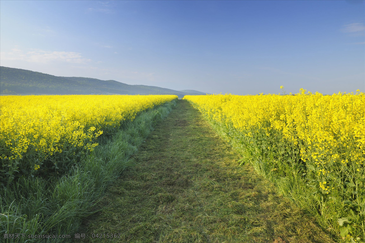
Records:
<instances>
[{"instance_id":1,"label":"long wispy white cloud low above the hill's left end","mask_svg":"<svg viewBox=\"0 0 365 243\"><path fill-rule=\"evenodd\" d=\"M87 63L91 61L91 59L84 58L78 52L43 51L39 49L24 52L19 48L13 48L10 52L1 52L0 60L20 60L33 63L49 63L53 61Z\"/></svg>"}]
</instances>

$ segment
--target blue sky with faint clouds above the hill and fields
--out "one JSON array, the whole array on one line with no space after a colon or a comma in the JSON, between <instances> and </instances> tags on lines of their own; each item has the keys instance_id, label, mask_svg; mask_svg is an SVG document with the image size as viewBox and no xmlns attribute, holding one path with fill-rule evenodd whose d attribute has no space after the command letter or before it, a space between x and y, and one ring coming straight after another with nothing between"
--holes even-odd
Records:
<instances>
[{"instance_id":1,"label":"blue sky with faint clouds above the hill and fields","mask_svg":"<svg viewBox=\"0 0 365 243\"><path fill-rule=\"evenodd\" d=\"M365 91L364 1L0 1L0 64L208 93Z\"/></svg>"}]
</instances>

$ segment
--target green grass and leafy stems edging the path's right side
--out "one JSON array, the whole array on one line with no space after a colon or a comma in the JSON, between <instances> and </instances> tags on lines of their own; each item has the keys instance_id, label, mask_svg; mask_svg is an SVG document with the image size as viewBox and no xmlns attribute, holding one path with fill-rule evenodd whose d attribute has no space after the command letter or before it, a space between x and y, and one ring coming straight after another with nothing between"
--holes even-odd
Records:
<instances>
[{"instance_id":1,"label":"green grass and leafy stems edging the path's right side","mask_svg":"<svg viewBox=\"0 0 365 243\"><path fill-rule=\"evenodd\" d=\"M338 216L336 213L339 213L338 208L327 207L326 214L322 213L323 209L321 210L318 201L313 197L313 189L308 187L306 181L303 180L302 175L305 175L306 171L303 170L300 164L291 163L291 155L284 152L287 151L286 148L290 148L289 146L282 143L273 150L273 153L266 153L266 150L261 147L263 143L259 138L247 138L234 128L212 121L208 117L205 117L205 119L221 137L242 155L241 165L250 163L255 171L264 175L276 185L278 193L293 201L307 214L313 215L318 225L330 234L334 240L351 243L364 242L360 237L346 236L349 230L345 232L345 236L342 236L342 231L334 224L335 221L337 223ZM288 163L282 161L288 161ZM361 235L361 232L357 233L357 235Z\"/></svg>"}]
</instances>

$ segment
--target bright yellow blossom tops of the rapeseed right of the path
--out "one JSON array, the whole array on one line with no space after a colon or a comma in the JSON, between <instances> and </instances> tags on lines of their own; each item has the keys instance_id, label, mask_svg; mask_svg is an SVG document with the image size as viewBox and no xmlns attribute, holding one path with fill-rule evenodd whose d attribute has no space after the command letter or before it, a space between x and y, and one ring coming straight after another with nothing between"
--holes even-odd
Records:
<instances>
[{"instance_id":1,"label":"bright yellow blossom tops of the rapeseed right of the path","mask_svg":"<svg viewBox=\"0 0 365 243\"><path fill-rule=\"evenodd\" d=\"M253 136L261 130L266 136L300 146L304 161L314 162L324 174L336 162L357 164L364 173L365 95L364 93L322 95L187 95L205 116ZM321 173L322 174L322 173Z\"/></svg>"}]
</instances>

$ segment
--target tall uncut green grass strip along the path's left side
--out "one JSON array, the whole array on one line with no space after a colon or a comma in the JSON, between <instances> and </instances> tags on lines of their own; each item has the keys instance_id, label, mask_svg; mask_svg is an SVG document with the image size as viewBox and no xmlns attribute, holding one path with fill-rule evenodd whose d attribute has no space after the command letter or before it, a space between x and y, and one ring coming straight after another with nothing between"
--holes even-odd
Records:
<instances>
[{"instance_id":1,"label":"tall uncut green grass strip along the path's left side","mask_svg":"<svg viewBox=\"0 0 365 243\"><path fill-rule=\"evenodd\" d=\"M28 235L43 234L68 234L73 238L82 219L94 212L93 206L105 190L131 165L129 157L174 104L175 101L169 102L139 114L132 122L124 123L111 139L100 137L100 145L75 164L68 175L21 178L8 188L1 188L0 242L32 242ZM25 234L25 237L5 239L4 234Z\"/></svg>"}]
</instances>

